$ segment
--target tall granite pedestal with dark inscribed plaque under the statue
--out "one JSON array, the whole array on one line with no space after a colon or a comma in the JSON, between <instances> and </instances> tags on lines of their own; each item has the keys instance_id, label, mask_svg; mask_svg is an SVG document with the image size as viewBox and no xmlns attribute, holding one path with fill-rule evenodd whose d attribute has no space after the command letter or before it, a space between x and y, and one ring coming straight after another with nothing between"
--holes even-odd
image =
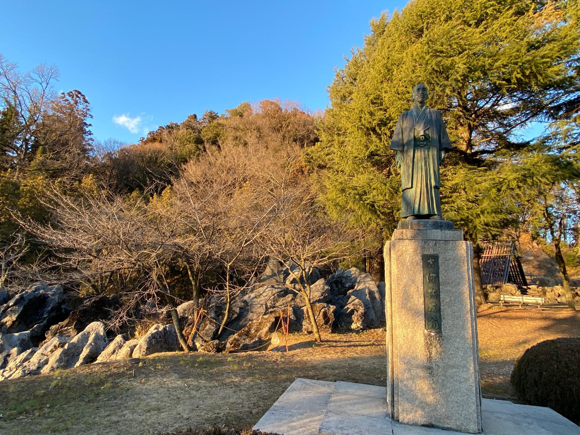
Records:
<instances>
[{"instance_id":1,"label":"tall granite pedestal with dark inscribed plaque under the statue","mask_svg":"<svg viewBox=\"0 0 580 435\"><path fill-rule=\"evenodd\" d=\"M448 221L403 221L385 245L387 409L395 421L482 430L472 261L472 244Z\"/></svg>"}]
</instances>

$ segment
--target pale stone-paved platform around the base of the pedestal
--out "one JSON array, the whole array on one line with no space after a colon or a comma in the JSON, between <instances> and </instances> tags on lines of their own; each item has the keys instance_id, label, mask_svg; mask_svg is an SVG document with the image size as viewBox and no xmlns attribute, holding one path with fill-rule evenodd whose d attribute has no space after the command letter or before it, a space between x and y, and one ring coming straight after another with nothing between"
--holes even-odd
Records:
<instances>
[{"instance_id":1,"label":"pale stone-paved platform around the base of the pedestal","mask_svg":"<svg viewBox=\"0 0 580 435\"><path fill-rule=\"evenodd\" d=\"M580 427L550 408L483 399L485 435L580 435ZM253 427L281 435L452 435L401 425L387 415L385 387L296 379Z\"/></svg>"}]
</instances>

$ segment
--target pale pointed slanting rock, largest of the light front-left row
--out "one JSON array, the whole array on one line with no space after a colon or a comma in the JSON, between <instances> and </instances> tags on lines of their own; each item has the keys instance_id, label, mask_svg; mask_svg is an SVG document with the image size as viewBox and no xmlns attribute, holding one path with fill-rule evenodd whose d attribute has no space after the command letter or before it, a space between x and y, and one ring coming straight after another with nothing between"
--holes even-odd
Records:
<instances>
[{"instance_id":1,"label":"pale pointed slanting rock, largest of the light front-left row","mask_svg":"<svg viewBox=\"0 0 580 435\"><path fill-rule=\"evenodd\" d=\"M79 367L93 362L107 347L107 334L102 322L90 323L84 331L74 336L64 347L50 354L42 368L45 374L57 369Z\"/></svg>"}]
</instances>

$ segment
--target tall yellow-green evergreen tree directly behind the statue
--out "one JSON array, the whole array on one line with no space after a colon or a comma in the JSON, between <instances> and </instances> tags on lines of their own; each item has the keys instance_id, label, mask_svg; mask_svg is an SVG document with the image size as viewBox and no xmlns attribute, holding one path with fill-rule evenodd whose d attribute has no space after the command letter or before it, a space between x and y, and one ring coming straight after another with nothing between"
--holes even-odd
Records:
<instances>
[{"instance_id":1,"label":"tall yellow-green evergreen tree directly behind the statue","mask_svg":"<svg viewBox=\"0 0 580 435\"><path fill-rule=\"evenodd\" d=\"M442 168L444 217L476 244L478 269L477 241L513 219L519 178L498 166L529 144L521 128L578 95L578 30L575 1L414 0L371 21L329 87L332 107L309 153L327 169L328 209L355 209L357 224L389 236L400 208L390 139L423 83L454 144Z\"/></svg>"}]
</instances>

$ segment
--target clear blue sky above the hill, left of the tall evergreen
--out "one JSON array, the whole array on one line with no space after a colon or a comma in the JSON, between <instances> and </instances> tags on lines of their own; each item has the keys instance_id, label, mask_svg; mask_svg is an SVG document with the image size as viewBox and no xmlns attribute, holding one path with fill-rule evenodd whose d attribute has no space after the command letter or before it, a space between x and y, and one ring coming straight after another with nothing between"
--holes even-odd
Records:
<instances>
[{"instance_id":1,"label":"clear blue sky above the hill, left of the tall evergreen","mask_svg":"<svg viewBox=\"0 0 580 435\"><path fill-rule=\"evenodd\" d=\"M55 64L56 90L88 98L95 139L131 143L244 101L324 109L334 67L371 18L405 2L5 2L0 53L23 70Z\"/></svg>"}]
</instances>

